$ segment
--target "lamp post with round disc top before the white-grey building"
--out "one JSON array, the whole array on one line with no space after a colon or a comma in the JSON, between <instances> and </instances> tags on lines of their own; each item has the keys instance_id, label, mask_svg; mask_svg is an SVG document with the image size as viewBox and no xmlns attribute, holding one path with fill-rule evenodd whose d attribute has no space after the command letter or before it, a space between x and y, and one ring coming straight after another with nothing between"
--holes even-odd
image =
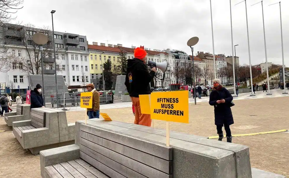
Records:
<instances>
[{"instance_id":1,"label":"lamp post with round disc top before the white-grey building","mask_svg":"<svg viewBox=\"0 0 289 178\"><path fill-rule=\"evenodd\" d=\"M42 33L35 33L32 35L32 40L36 44L39 44L39 51L41 54L41 66L42 66L42 93L43 93L43 104L45 106L45 93L44 93L44 68L43 68L43 56L42 56L42 51L43 51L43 44L46 44L48 42L47 36L45 36Z\"/></svg>"}]
</instances>

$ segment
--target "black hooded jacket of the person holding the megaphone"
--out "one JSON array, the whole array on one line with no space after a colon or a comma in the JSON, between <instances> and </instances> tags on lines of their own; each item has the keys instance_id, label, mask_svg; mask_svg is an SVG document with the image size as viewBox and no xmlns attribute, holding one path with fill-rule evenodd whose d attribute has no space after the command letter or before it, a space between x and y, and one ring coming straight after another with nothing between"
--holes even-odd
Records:
<instances>
[{"instance_id":1,"label":"black hooded jacket of the person holding the megaphone","mask_svg":"<svg viewBox=\"0 0 289 178\"><path fill-rule=\"evenodd\" d=\"M125 76L125 86L131 97L150 94L149 83L154 78L154 71L147 71L147 66L142 60L128 59L128 68Z\"/></svg>"}]
</instances>

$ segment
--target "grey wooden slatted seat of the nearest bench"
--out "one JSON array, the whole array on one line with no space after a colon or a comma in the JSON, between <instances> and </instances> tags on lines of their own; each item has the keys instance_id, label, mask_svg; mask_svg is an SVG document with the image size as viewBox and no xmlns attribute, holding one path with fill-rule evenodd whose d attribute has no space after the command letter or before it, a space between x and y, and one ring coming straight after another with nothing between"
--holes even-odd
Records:
<instances>
[{"instance_id":1,"label":"grey wooden slatted seat of the nearest bench","mask_svg":"<svg viewBox=\"0 0 289 178\"><path fill-rule=\"evenodd\" d=\"M44 170L50 177L109 178L82 159L47 166Z\"/></svg>"}]
</instances>

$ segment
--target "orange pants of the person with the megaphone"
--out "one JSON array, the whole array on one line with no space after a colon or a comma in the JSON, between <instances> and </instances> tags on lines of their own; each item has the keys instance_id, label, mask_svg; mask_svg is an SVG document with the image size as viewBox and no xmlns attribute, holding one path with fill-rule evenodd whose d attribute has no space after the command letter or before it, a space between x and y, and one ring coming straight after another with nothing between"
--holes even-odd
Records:
<instances>
[{"instance_id":1,"label":"orange pants of the person with the megaphone","mask_svg":"<svg viewBox=\"0 0 289 178\"><path fill-rule=\"evenodd\" d=\"M142 114L140 111L140 98L131 97L131 101L133 102L133 106L135 107L135 122L134 124L139 124L143 126L151 126L152 119L150 114Z\"/></svg>"}]
</instances>

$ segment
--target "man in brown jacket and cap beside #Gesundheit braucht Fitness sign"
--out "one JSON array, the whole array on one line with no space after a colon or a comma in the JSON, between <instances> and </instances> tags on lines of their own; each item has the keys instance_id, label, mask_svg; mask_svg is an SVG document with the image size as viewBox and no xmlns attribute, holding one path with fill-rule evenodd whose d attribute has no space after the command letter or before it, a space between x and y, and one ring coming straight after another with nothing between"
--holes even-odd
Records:
<instances>
[{"instance_id":1,"label":"man in brown jacket and cap beside #Gesundheit braucht Fitness sign","mask_svg":"<svg viewBox=\"0 0 289 178\"><path fill-rule=\"evenodd\" d=\"M88 92L92 92L92 108L87 109L88 119L99 118L99 93L94 88L93 83L86 85Z\"/></svg>"}]
</instances>

